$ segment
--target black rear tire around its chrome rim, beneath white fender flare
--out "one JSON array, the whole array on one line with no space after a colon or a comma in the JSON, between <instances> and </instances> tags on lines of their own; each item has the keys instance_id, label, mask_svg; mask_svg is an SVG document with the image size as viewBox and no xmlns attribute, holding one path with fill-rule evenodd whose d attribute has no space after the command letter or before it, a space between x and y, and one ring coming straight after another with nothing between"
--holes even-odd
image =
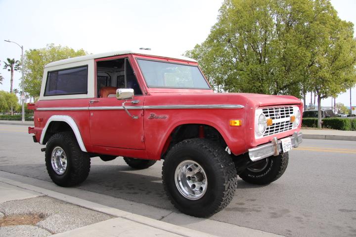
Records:
<instances>
[{"instance_id":1,"label":"black rear tire around its chrome rim, beneath white fender flare","mask_svg":"<svg viewBox=\"0 0 356 237\"><path fill-rule=\"evenodd\" d=\"M71 151L70 152L71 153L70 154L71 155L71 157L70 157L71 169L70 169L69 178L65 182L58 182L50 172L50 170L52 169L51 163L45 162L47 172L48 172L51 180L55 184L62 186L62 187L71 187L71 186L75 186L75 185L78 185L78 184L84 182L87 179L87 177L89 175L89 171L90 171L89 155L85 152L82 152L82 150L80 149L80 147L78 145L77 139L74 137L73 132L59 132L59 133L53 134L47 142L47 147L55 139L59 139L59 140L67 143L67 145ZM47 157L47 155L50 156L51 152L52 151L49 151L48 149L46 149L45 157ZM49 154L47 154L47 153L49 153ZM66 155L68 156L69 154L66 154Z\"/></svg>"}]
</instances>

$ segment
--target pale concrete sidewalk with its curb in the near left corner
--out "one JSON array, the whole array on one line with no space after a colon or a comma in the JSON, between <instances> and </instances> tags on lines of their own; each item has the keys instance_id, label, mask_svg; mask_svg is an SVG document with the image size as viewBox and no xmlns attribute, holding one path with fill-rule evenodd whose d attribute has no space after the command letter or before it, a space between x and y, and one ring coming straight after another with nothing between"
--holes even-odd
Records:
<instances>
[{"instance_id":1,"label":"pale concrete sidewalk with its curb in the near left corner","mask_svg":"<svg viewBox=\"0 0 356 237\"><path fill-rule=\"evenodd\" d=\"M0 236L55 234L54 236L58 237L214 237L77 197L0 178L0 223L4 215L28 215L34 212L44 213L44 220L35 225L0 227Z\"/></svg>"}]
</instances>

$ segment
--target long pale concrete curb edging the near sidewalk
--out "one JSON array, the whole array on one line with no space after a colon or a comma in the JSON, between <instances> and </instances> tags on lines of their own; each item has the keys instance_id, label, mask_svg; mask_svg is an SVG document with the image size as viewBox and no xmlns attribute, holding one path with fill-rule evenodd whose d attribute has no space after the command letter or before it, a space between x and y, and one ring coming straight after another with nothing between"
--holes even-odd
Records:
<instances>
[{"instance_id":1,"label":"long pale concrete curb edging the near sidewalk","mask_svg":"<svg viewBox=\"0 0 356 237\"><path fill-rule=\"evenodd\" d=\"M32 185L28 185L28 184L24 184L24 183L20 183L17 181L13 181L10 179L6 179L6 178L0 178L0 181L9 185L13 185L22 189L26 189L26 190L30 190L30 191L34 191L43 195L46 195L48 197L53 197L56 198L58 200L62 200L68 203L72 203L87 209L91 209L94 211L99 211L108 215L112 215L115 217L120 217L129 221L134 221L136 223L139 224L143 224L149 227L153 227L159 230L163 230L172 234L176 234L179 236L184 236L184 237L215 237L213 235L207 234L207 233L203 233L203 232L199 232L199 231L195 231L195 230L191 230L188 228L184 228L184 227L180 227L180 226L176 226L173 224L169 224L166 222L162 222L162 221L158 221L152 218L148 218L145 216L140 216L140 215L136 215L133 214L131 212L126 212L126 211L122 211L113 207L109 207L109 206L104 206L95 202L91 202L91 201L87 201L81 198L77 198L77 197L71 197L68 195L64 195L61 193L57 193L54 191L50 191L50 190L46 190L40 187L36 187L36 186L32 186ZM65 232L66 233L66 232ZM61 233L61 234L65 234L65 233ZM270 233L266 233L266 234L270 234ZM275 235L277 236L277 235Z\"/></svg>"}]
</instances>

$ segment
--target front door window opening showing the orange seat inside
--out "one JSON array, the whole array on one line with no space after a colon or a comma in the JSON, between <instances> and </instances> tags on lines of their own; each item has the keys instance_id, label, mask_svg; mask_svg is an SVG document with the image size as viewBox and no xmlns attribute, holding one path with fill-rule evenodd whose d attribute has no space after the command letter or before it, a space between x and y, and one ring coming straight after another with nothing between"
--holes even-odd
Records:
<instances>
[{"instance_id":1,"label":"front door window opening showing the orange seat inside","mask_svg":"<svg viewBox=\"0 0 356 237\"><path fill-rule=\"evenodd\" d=\"M96 67L98 72L96 75L97 97L114 97L118 88L132 88L134 95L142 95L128 58L99 61ZM101 81L102 73L110 77L109 84Z\"/></svg>"}]
</instances>

